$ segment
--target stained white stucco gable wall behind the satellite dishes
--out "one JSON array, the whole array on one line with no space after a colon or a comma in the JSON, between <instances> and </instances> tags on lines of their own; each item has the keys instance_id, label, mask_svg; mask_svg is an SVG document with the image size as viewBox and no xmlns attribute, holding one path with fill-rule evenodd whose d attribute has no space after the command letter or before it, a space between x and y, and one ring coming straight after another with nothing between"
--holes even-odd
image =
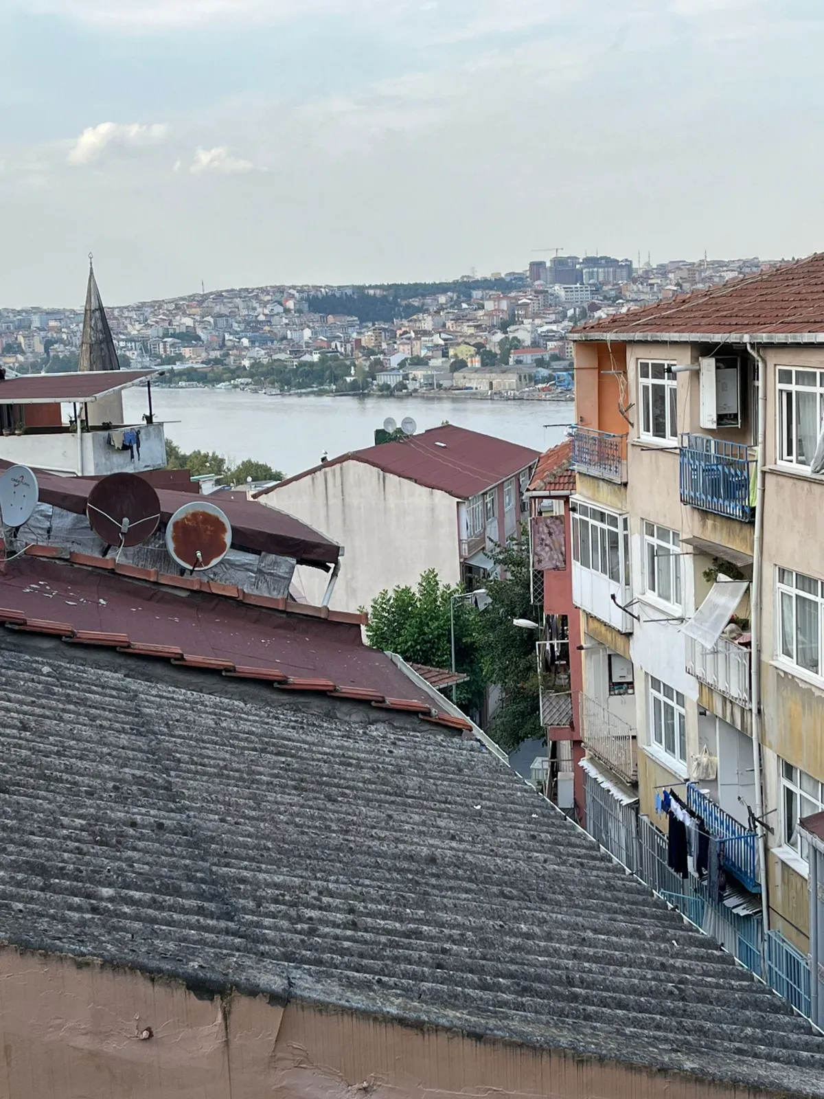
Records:
<instances>
[{"instance_id":1,"label":"stained white stucco gable wall behind the satellite dishes","mask_svg":"<svg viewBox=\"0 0 824 1099\"><path fill-rule=\"evenodd\" d=\"M260 500L344 546L330 604L335 610L368 609L379 591L414 586L427 568L446 584L460 580L458 501L446 492L349 459L276 487ZM320 603L326 575L301 568L298 579L308 601Z\"/></svg>"}]
</instances>

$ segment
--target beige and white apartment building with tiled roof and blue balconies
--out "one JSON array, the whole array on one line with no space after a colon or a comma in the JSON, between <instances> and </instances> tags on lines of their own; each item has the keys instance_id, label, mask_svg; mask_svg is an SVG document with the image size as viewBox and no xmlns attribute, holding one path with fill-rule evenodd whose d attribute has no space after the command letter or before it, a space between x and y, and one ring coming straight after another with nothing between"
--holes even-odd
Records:
<instances>
[{"instance_id":1,"label":"beige and white apartment building with tiled roof and blue balconies","mask_svg":"<svg viewBox=\"0 0 824 1099\"><path fill-rule=\"evenodd\" d=\"M804 819L824 810L824 255L571 337L587 798L773 987L795 965L784 995L821 1021ZM726 890L667 865L670 792Z\"/></svg>"}]
</instances>

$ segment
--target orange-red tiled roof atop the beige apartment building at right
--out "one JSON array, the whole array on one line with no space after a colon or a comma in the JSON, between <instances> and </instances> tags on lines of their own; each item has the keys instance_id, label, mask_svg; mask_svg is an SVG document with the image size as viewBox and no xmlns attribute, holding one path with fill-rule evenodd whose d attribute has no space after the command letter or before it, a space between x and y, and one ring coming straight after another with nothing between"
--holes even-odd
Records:
<instances>
[{"instance_id":1,"label":"orange-red tiled roof atop the beige apartment building at right","mask_svg":"<svg viewBox=\"0 0 824 1099\"><path fill-rule=\"evenodd\" d=\"M824 253L711 290L590 321L574 338L697 335L709 340L815 334L824 342ZM789 342L793 342L791 338Z\"/></svg>"}]
</instances>

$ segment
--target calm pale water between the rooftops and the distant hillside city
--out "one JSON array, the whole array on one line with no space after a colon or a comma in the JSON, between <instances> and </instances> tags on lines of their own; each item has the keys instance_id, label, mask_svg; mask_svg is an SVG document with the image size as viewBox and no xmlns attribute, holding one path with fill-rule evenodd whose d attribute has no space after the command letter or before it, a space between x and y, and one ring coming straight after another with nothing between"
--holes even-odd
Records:
<instances>
[{"instance_id":1,"label":"calm pale water between the rooftops and the distant hillside city","mask_svg":"<svg viewBox=\"0 0 824 1099\"><path fill-rule=\"evenodd\" d=\"M232 460L255 458L287 476L375 443L387 417L412 417L419 431L444 420L535 451L555 446L572 422L570 401L509 401L468 397L266 397L227 389L152 390L166 437L183 451L216 451ZM140 423L145 389L123 393L126 422Z\"/></svg>"}]
</instances>

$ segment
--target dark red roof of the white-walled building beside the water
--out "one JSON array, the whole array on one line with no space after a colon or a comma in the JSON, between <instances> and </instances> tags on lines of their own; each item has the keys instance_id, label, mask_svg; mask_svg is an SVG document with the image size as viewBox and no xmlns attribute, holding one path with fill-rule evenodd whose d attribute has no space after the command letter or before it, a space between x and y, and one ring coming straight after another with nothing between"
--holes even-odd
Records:
<instances>
[{"instance_id":1,"label":"dark red roof of the white-walled building beside the water","mask_svg":"<svg viewBox=\"0 0 824 1099\"><path fill-rule=\"evenodd\" d=\"M302 477L343 462L365 462L385 473L466 500L534 465L538 457L537 451L531 451L526 446L446 424L432 428L420 435L410 435L403 442L382 443L380 446L342 454L255 495L261 497L272 493L272 498L277 498L278 489Z\"/></svg>"}]
</instances>

